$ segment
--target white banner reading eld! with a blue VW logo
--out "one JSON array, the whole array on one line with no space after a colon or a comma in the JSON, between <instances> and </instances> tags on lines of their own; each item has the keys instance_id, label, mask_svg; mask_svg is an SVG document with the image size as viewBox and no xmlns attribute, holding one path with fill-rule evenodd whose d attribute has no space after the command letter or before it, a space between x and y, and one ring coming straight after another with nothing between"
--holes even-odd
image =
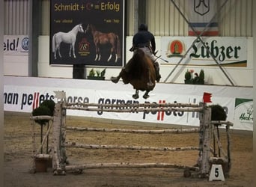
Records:
<instances>
[{"instance_id":1,"label":"white banner reading eld! with a blue VW logo","mask_svg":"<svg viewBox=\"0 0 256 187\"><path fill-rule=\"evenodd\" d=\"M4 35L4 55L28 56L28 36Z\"/></svg>"}]
</instances>

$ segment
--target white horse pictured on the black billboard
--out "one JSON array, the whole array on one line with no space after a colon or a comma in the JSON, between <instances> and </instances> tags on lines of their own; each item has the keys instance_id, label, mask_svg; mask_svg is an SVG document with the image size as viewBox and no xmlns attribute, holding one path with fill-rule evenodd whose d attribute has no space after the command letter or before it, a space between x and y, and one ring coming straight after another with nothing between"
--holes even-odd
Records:
<instances>
[{"instance_id":1,"label":"white horse pictured on the black billboard","mask_svg":"<svg viewBox=\"0 0 256 187\"><path fill-rule=\"evenodd\" d=\"M58 50L58 56L61 58L60 46L62 42L70 44L70 57L71 57L71 49L73 49L73 57L76 58L75 43L76 43L76 35L78 32L84 33L82 24L76 25L69 32L58 32L52 36L52 52L54 52L55 59L57 58L56 57L57 50Z\"/></svg>"}]
</instances>

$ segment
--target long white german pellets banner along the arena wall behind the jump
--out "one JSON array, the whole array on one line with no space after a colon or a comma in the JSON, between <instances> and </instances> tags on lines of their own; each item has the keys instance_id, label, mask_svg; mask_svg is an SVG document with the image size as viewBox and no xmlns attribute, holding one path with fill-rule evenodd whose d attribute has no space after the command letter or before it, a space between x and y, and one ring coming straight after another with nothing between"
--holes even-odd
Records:
<instances>
[{"instance_id":1,"label":"long white german pellets banner along the arena wall behind the jump","mask_svg":"<svg viewBox=\"0 0 256 187\"><path fill-rule=\"evenodd\" d=\"M68 85L68 88L67 88ZM31 112L43 100L55 99L54 91L65 91L67 102L100 104L122 103L197 103L202 102L204 92L212 93L208 105L219 104L227 113L227 120L234 123L234 129L253 129L252 88L179 85L159 83L150 98L133 99L132 86L112 82L73 79L4 78L4 111ZM242 96L246 99L240 99ZM199 126L198 112L151 111L115 113L106 111L67 110L68 115L98 117L115 120L140 121L147 123Z\"/></svg>"}]
</instances>

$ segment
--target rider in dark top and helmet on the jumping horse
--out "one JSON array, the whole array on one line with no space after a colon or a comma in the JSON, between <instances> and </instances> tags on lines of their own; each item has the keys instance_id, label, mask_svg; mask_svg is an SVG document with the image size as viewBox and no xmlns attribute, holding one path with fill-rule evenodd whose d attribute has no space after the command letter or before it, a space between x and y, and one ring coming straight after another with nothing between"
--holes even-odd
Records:
<instances>
[{"instance_id":1,"label":"rider in dark top and helmet on the jumping horse","mask_svg":"<svg viewBox=\"0 0 256 187\"><path fill-rule=\"evenodd\" d=\"M161 76L159 74L159 64L156 61L155 50L156 42L155 37L150 31L147 31L147 25L141 24L138 27L138 32L132 38L132 48L130 51L135 51L135 49L142 49L144 53L153 62L153 67L156 70L156 82L159 82Z\"/></svg>"}]
</instances>

